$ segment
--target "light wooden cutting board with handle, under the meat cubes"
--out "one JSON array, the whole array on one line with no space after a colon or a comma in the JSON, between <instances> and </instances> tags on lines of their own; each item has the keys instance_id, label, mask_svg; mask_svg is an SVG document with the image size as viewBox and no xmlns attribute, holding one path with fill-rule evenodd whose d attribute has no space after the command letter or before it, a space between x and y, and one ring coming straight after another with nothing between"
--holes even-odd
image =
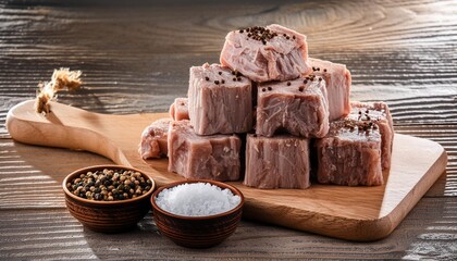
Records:
<instances>
[{"instance_id":1,"label":"light wooden cutting board with handle, under the meat cubes","mask_svg":"<svg viewBox=\"0 0 457 261\"><path fill-rule=\"evenodd\" d=\"M47 116L34 101L12 108L7 127L13 139L40 146L81 149L134 166L159 186L183 177L166 171L168 160L144 161L138 154L143 129L168 113L108 115L51 103ZM312 184L309 189L256 189L231 183L246 198L244 216L349 240L386 237L445 171L447 154L431 140L396 134L385 185L343 187Z\"/></svg>"}]
</instances>

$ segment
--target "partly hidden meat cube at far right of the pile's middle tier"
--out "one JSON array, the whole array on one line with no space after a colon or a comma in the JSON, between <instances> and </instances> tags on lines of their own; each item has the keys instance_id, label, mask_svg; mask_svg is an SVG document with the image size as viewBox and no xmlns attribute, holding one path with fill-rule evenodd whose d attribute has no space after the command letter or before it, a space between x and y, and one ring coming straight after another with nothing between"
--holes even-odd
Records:
<instances>
[{"instance_id":1,"label":"partly hidden meat cube at far right of the pile's middle tier","mask_svg":"<svg viewBox=\"0 0 457 261\"><path fill-rule=\"evenodd\" d=\"M329 98L330 121L346 116L350 112L350 73L346 65L309 58L313 73L325 79Z\"/></svg>"}]
</instances>

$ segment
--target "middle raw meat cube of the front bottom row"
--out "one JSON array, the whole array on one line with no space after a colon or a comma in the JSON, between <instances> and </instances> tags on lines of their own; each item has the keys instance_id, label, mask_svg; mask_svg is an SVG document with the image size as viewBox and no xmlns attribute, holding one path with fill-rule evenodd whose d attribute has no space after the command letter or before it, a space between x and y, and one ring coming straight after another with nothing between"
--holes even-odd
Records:
<instances>
[{"instance_id":1,"label":"middle raw meat cube of the front bottom row","mask_svg":"<svg viewBox=\"0 0 457 261\"><path fill-rule=\"evenodd\" d=\"M309 141L291 135L272 138L249 134L244 185L257 188L307 188Z\"/></svg>"}]
</instances>

